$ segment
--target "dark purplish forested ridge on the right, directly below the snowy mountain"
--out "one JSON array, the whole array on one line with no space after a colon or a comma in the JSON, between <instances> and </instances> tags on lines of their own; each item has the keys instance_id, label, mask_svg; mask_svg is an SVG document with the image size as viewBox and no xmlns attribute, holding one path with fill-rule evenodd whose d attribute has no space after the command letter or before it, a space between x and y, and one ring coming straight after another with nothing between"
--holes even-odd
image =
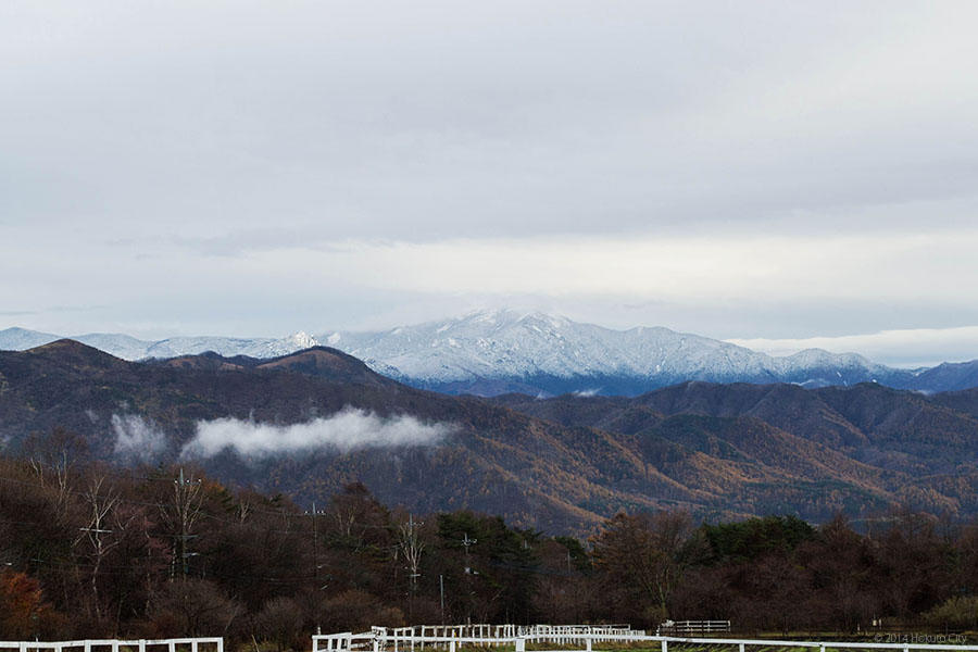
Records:
<instances>
[{"instance_id":1,"label":"dark purplish forested ridge on the right, directly below the snowy mountain","mask_svg":"<svg viewBox=\"0 0 978 652\"><path fill-rule=\"evenodd\" d=\"M557 424L637 437L662 435L677 423L758 421L860 463L936 481L974 479L978 464L978 389L925 396L872 383L820 389L684 383L634 399L509 394L494 402Z\"/></svg>"}]
</instances>

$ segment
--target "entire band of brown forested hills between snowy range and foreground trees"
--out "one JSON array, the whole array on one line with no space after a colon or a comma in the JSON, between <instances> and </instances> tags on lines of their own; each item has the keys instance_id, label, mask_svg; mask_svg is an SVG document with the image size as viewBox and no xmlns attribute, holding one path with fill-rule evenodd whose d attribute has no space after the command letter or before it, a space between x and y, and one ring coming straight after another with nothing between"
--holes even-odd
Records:
<instances>
[{"instance_id":1,"label":"entire band of brown forested hills between snowy range and foreground trees","mask_svg":"<svg viewBox=\"0 0 978 652\"><path fill-rule=\"evenodd\" d=\"M685 384L636 399L497 400L406 387L316 347L126 362L61 340L0 352L0 436L120 464L196 460L237 486L474 509L551 532L619 510L824 522L908 505L978 514L978 392Z\"/></svg>"}]
</instances>

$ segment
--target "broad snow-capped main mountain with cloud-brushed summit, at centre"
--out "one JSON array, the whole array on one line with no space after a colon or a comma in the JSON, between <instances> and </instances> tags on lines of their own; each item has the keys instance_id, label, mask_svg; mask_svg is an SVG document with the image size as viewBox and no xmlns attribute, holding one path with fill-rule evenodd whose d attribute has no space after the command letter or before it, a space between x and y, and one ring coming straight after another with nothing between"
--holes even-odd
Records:
<instances>
[{"instance_id":1,"label":"broad snow-capped main mountain with cloud-brushed summit, at centre","mask_svg":"<svg viewBox=\"0 0 978 652\"><path fill-rule=\"evenodd\" d=\"M477 393L638 393L684 380L826 386L910 374L853 353L813 349L775 358L668 328L613 330L507 310L317 339L405 383Z\"/></svg>"}]
</instances>

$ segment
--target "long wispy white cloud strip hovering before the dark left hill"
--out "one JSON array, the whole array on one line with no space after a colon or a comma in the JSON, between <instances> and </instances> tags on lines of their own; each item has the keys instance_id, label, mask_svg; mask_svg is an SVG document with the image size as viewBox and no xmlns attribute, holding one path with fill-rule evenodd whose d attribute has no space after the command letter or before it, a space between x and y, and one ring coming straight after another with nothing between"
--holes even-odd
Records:
<instances>
[{"instance_id":1,"label":"long wispy white cloud strip hovering before the dark left hill","mask_svg":"<svg viewBox=\"0 0 978 652\"><path fill-rule=\"evenodd\" d=\"M353 408L289 426L228 417L198 422L197 434L184 448L183 455L210 457L226 449L248 456L266 456L314 449L348 452L364 448L435 446L452 431L446 424L426 424L409 415L384 418Z\"/></svg>"}]
</instances>

